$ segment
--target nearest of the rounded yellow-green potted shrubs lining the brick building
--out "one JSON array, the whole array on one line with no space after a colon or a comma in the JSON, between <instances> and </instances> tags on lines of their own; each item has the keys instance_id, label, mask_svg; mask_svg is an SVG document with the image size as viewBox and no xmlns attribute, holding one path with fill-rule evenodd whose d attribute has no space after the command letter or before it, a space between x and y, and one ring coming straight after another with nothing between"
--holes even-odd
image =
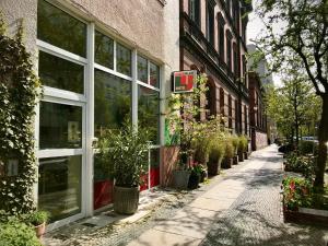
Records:
<instances>
[{"instance_id":1,"label":"nearest of the rounded yellow-green potted shrubs lining the brick building","mask_svg":"<svg viewBox=\"0 0 328 246\"><path fill-rule=\"evenodd\" d=\"M216 133L210 144L210 154L208 162L209 175L218 175L221 168L221 162L224 157L225 143L222 132Z\"/></svg>"}]
</instances>

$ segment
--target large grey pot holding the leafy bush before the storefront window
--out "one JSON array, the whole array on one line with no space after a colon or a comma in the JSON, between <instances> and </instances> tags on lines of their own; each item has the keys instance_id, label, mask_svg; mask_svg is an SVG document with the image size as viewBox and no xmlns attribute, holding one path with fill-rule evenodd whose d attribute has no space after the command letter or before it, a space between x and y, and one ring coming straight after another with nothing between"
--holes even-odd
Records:
<instances>
[{"instance_id":1,"label":"large grey pot holding the leafy bush before the storefront window","mask_svg":"<svg viewBox=\"0 0 328 246\"><path fill-rule=\"evenodd\" d=\"M133 214L138 210L139 187L114 186L114 211Z\"/></svg>"}]
</instances>

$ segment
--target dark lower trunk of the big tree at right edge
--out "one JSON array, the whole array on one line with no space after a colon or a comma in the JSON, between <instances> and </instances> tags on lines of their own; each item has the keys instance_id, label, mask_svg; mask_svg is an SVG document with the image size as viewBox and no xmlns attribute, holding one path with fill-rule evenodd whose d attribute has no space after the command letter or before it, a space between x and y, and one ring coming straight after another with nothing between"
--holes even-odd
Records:
<instances>
[{"instance_id":1,"label":"dark lower trunk of the big tree at right edge","mask_svg":"<svg viewBox=\"0 0 328 246\"><path fill-rule=\"evenodd\" d=\"M317 168L316 168L316 178L315 187L319 190L324 189L325 185L325 168L327 162L327 141L328 141L328 94L325 93L321 95L323 99L323 112L321 119L318 130L318 157L317 157Z\"/></svg>"}]
</instances>

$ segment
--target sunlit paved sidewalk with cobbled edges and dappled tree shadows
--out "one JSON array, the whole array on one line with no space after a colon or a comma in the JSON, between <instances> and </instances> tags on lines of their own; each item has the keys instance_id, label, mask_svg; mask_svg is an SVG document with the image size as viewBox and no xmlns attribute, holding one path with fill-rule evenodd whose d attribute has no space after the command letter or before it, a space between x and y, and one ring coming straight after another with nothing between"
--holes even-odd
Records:
<instances>
[{"instance_id":1,"label":"sunlit paved sidewalk with cobbled edges and dappled tree shadows","mask_svg":"<svg viewBox=\"0 0 328 246\"><path fill-rule=\"evenodd\" d=\"M49 246L327 246L328 232L283 223L282 157L271 145L192 191L145 192L136 214L109 209L45 236Z\"/></svg>"}]
</instances>

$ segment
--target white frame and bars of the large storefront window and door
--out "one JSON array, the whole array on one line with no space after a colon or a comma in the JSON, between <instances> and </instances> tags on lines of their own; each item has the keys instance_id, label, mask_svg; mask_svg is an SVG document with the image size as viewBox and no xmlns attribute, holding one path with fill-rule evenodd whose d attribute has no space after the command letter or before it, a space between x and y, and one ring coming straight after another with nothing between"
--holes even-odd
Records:
<instances>
[{"instance_id":1,"label":"white frame and bars of the large storefront window and door","mask_svg":"<svg viewBox=\"0 0 328 246\"><path fill-rule=\"evenodd\" d=\"M77 65L84 67L84 81L83 81L83 94L70 92L61 89L56 89L51 86L43 86L44 89L44 97L42 102L50 102L57 104L66 104L72 106L80 106L82 107L82 148L80 149L49 149L49 150L39 150L39 103L35 107L36 112L36 120L35 120L35 148L36 148L36 156L38 159L45 157L58 157L58 156L72 156L72 155L81 155L82 163L81 163L81 213L74 214L72 216L56 221L55 223L48 225L48 231L62 226L71 221L75 221L82 219L86 215L93 215L94 208L93 208L93 156L96 152L95 149L92 148L92 143L94 140L94 71L98 69L104 71L108 74L118 77L120 79L125 79L131 82L131 109L132 109L132 124L138 125L138 85L145 86L153 91L160 93L160 130L159 130L159 138L160 143L150 147L151 149L160 149L161 145L164 143L164 117L161 114L164 108L164 72L163 66L157 65L157 62L153 62L149 58L144 57L142 54L141 56L148 60L148 83L138 80L138 50L137 48L131 48L131 46L127 45L124 40L115 37L107 31L96 25L93 22L86 22L85 20L81 19L79 15L74 13L74 10L69 10L69 5L65 5L65 9L61 5L54 4L49 2L51 5L62 10L67 14L71 15L72 17L81 21L82 23L86 24L86 57L81 57L77 54L70 52L57 46L54 46L49 43L43 42L40 39L36 40L36 45L38 50L47 52L51 56L59 57L61 59L66 59L68 61L74 62ZM95 46L95 31L108 36L114 42L114 67L113 70L101 66L95 62L94 60L94 46ZM117 72L117 43L124 45L126 48L131 50L131 77ZM159 66L160 75L159 75L159 87L150 85L150 62ZM150 151L149 151L150 154ZM160 155L160 163L161 163L161 155ZM150 156L149 156L149 168L150 168ZM149 172L150 175L150 172ZM150 176L149 176L150 177ZM149 178L150 181L150 178ZM150 189L150 184L149 184ZM38 200L38 190L37 190L37 183L35 184L35 201Z\"/></svg>"}]
</instances>

